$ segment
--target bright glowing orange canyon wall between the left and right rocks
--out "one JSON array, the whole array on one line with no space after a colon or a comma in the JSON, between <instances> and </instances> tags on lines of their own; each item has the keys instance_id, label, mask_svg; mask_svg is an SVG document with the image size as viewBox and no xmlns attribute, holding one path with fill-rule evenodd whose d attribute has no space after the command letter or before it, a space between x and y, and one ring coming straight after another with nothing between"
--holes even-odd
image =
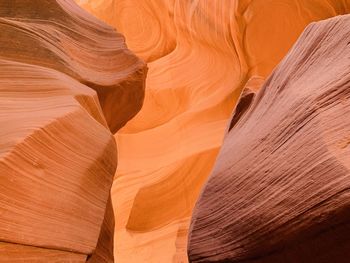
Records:
<instances>
[{"instance_id":1,"label":"bright glowing orange canyon wall between the left and right rocks","mask_svg":"<svg viewBox=\"0 0 350 263\"><path fill-rule=\"evenodd\" d=\"M149 67L144 106L116 135L115 255L186 262L192 209L242 88L258 87L310 22L349 12L349 1L77 2Z\"/></svg>"}]
</instances>

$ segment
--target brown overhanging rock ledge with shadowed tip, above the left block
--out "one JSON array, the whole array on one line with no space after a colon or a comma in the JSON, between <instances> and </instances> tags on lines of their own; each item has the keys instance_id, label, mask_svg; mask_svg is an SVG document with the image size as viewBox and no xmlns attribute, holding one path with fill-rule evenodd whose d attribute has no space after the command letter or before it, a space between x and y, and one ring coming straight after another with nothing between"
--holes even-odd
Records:
<instances>
[{"instance_id":1,"label":"brown overhanging rock ledge with shadowed tip, above the left block","mask_svg":"<svg viewBox=\"0 0 350 263\"><path fill-rule=\"evenodd\" d=\"M145 63L73 0L1 1L0 30L0 57L56 69L96 90L113 133L141 108Z\"/></svg>"}]
</instances>

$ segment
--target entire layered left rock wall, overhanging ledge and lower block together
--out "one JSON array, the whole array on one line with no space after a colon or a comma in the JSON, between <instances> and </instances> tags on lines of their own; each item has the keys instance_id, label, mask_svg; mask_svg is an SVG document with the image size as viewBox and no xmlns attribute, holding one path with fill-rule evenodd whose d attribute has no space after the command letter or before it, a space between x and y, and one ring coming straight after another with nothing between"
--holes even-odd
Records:
<instances>
[{"instance_id":1,"label":"entire layered left rock wall, overhanging ledge and lower block together","mask_svg":"<svg viewBox=\"0 0 350 263\"><path fill-rule=\"evenodd\" d=\"M144 73L74 1L0 0L0 262L113 262L111 131Z\"/></svg>"}]
</instances>

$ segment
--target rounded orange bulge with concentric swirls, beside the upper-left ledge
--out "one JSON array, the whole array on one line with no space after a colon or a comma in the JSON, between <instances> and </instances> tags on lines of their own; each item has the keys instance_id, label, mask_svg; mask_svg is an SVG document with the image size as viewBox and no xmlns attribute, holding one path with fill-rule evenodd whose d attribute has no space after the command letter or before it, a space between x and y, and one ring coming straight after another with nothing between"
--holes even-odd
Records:
<instances>
[{"instance_id":1,"label":"rounded orange bulge with concentric swirls, beside the upper-left ledge","mask_svg":"<svg viewBox=\"0 0 350 263\"><path fill-rule=\"evenodd\" d=\"M173 0L76 0L105 22L116 26L128 47L150 62L176 47Z\"/></svg>"}]
</instances>

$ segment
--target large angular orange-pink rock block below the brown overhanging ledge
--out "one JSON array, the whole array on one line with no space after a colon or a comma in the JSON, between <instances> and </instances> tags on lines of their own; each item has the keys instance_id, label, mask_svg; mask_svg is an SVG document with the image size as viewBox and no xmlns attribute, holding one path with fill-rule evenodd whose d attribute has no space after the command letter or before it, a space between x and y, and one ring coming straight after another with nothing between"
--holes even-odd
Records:
<instances>
[{"instance_id":1,"label":"large angular orange-pink rock block below the brown overhanging ledge","mask_svg":"<svg viewBox=\"0 0 350 263\"><path fill-rule=\"evenodd\" d=\"M0 69L0 240L90 254L117 165L96 93L48 68Z\"/></svg>"}]
</instances>

